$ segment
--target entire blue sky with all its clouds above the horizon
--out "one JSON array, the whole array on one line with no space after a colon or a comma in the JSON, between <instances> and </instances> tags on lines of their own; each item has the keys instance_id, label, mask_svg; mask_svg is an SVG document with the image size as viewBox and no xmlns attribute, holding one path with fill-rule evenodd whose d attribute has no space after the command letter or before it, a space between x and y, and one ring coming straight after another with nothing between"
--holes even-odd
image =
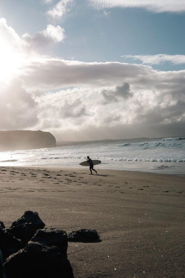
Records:
<instances>
[{"instance_id":1,"label":"entire blue sky with all its clouds above the horizon","mask_svg":"<svg viewBox=\"0 0 185 278\"><path fill-rule=\"evenodd\" d=\"M185 135L184 0L1 0L0 130Z\"/></svg>"}]
</instances>

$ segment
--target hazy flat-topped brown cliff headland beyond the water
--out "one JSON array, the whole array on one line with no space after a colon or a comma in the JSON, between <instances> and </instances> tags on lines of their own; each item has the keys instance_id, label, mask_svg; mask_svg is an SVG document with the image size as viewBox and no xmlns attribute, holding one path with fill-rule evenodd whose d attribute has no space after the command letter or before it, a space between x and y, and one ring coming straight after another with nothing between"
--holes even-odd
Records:
<instances>
[{"instance_id":1,"label":"hazy flat-topped brown cliff headland beyond the water","mask_svg":"<svg viewBox=\"0 0 185 278\"><path fill-rule=\"evenodd\" d=\"M0 131L0 152L56 147L56 139L50 132L41 130Z\"/></svg>"}]
</instances>

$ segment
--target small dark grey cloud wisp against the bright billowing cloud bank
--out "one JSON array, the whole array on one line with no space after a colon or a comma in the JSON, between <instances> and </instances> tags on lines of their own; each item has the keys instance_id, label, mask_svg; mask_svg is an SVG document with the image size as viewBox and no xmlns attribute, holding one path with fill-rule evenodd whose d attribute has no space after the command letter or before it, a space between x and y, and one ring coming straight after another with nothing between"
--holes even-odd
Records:
<instances>
[{"instance_id":1,"label":"small dark grey cloud wisp against the bright billowing cloud bank","mask_svg":"<svg viewBox=\"0 0 185 278\"><path fill-rule=\"evenodd\" d=\"M130 92L129 83L124 83L121 86L116 86L114 90L102 90L102 95L105 103L117 102L120 98L128 99L133 94Z\"/></svg>"}]
</instances>

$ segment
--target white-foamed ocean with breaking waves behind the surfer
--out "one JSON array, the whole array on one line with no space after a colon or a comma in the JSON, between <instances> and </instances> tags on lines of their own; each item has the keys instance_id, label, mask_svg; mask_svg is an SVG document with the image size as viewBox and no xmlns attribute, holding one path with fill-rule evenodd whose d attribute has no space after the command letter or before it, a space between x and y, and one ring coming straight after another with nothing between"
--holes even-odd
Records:
<instances>
[{"instance_id":1,"label":"white-foamed ocean with breaking waves behind the surfer","mask_svg":"<svg viewBox=\"0 0 185 278\"><path fill-rule=\"evenodd\" d=\"M87 156L101 160L95 169L185 175L185 137L68 142L55 148L0 153L0 166L79 167Z\"/></svg>"}]
</instances>

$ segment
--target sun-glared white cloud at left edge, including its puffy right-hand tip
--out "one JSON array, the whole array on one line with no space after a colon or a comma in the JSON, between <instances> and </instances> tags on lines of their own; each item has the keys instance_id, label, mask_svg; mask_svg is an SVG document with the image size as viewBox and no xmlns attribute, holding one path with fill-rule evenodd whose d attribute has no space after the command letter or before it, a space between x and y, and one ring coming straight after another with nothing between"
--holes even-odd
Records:
<instances>
[{"instance_id":1,"label":"sun-glared white cloud at left edge, including its puffy right-hand tip","mask_svg":"<svg viewBox=\"0 0 185 278\"><path fill-rule=\"evenodd\" d=\"M59 25L49 24L43 31L34 35L24 34L19 36L12 27L8 26L6 19L0 19L0 80L5 81L18 74L19 69L25 64L39 60L42 56L38 53L47 53L52 44L63 41L65 31Z\"/></svg>"}]
</instances>

